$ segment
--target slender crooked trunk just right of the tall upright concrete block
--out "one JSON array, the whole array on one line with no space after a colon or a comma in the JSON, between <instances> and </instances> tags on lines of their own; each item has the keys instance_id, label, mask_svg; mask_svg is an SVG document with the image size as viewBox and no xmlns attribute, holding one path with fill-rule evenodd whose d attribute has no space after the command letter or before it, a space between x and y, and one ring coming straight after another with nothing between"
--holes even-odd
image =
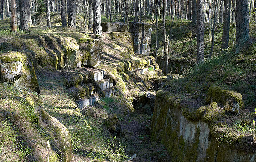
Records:
<instances>
[{"instance_id":1,"label":"slender crooked trunk just right of the tall upright concrete block","mask_svg":"<svg viewBox=\"0 0 256 162\"><path fill-rule=\"evenodd\" d=\"M169 62L169 53L168 46L166 41L166 27L165 27L165 17L166 17L166 1L163 0L163 48L165 51L165 75L169 73L168 62Z\"/></svg>"}]
</instances>

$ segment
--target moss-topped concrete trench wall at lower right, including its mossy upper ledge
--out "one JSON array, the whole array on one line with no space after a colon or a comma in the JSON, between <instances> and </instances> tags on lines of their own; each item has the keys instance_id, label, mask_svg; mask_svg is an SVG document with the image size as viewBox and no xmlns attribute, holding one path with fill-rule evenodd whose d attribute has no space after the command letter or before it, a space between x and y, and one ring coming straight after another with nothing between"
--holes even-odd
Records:
<instances>
[{"instance_id":1,"label":"moss-topped concrete trench wall at lower right, including its mossy upper ledge","mask_svg":"<svg viewBox=\"0 0 256 162\"><path fill-rule=\"evenodd\" d=\"M216 102L198 107L185 95L157 92L151 140L165 145L170 161L255 161L253 144L244 140L247 136L225 132L230 127L219 120L223 108Z\"/></svg>"}]
</instances>

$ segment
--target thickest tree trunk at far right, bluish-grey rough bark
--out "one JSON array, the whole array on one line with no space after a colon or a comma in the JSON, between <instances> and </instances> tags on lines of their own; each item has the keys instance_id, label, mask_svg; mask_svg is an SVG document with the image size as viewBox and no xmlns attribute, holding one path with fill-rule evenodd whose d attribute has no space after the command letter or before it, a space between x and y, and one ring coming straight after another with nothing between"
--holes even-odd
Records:
<instances>
[{"instance_id":1,"label":"thickest tree trunk at far right, bluish-grey rough bark","mask_svg":"<svg viewBox=\"0 0 256 162\"><path fill-rule=\"evenodd\" d=\"M248 0L236 0L236 52L239 52L249 39Z\"/></svg>"}]
</instances>

